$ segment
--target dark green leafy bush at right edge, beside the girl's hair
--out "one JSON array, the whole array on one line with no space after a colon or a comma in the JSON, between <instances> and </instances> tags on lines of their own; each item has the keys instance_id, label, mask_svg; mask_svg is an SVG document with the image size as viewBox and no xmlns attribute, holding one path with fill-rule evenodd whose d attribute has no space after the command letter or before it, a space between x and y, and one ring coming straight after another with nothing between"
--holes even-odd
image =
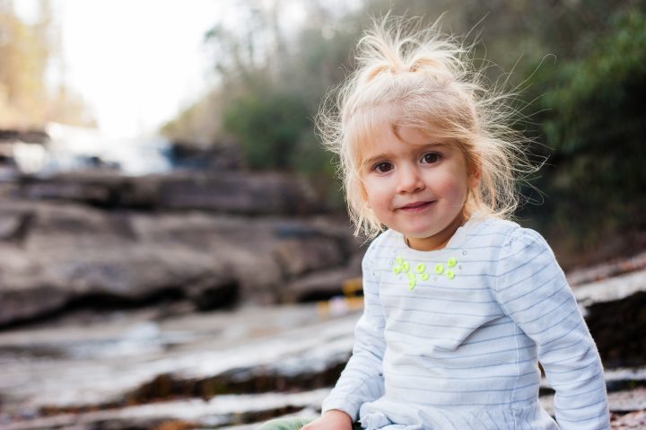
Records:
<instances>
[{"instance_id":1,"label":"dark green leafy bush at right edge, beside the girl's hair","mask_svg":"<svg viewBox=\"0 0 646 430\"><path fill-rule=\"evenodd\" d=\"M646 15L615 15L587 56L558 70L538 83L554 88L541 101L553 148L541 185L552 202L551 230L590 244L643 229Z\"/></svg>"}]
</instances>

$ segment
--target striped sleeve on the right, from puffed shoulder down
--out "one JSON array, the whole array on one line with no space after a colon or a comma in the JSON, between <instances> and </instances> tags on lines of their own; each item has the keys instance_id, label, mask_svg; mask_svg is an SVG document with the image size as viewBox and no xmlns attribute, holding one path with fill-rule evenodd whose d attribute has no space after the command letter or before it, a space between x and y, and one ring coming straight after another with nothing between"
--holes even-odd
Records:
<instances>
[{"instance_id":1,"label":"striped sleeve on the right, from puffed shoulder down","mask_svg":"<svg viewBox=\"0 0 646 430\"><path fill-rule=\"evenodd\" d=\"M502 246L497 278L503 312L536 343L561 429L609 429L597 347L546 241L515 229Z\"/></svg>"}]
</instances>

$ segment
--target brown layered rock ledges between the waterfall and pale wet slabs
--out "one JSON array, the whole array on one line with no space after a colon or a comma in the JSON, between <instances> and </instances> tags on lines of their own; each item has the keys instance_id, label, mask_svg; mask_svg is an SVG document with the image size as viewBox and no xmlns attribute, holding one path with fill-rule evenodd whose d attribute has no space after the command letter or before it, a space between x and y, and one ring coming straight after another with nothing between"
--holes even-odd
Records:
<instances>
[{"instance_id":1,"label":"brown layered rock ledges between the waterfall and pale wet slabs","mask_svg":"<svg viewBox=\"0 0 646 430\"><path fill-rule=\"evenodd\" d=\"M11 187L0 193L0 327L109 303L295 303L360 274L347 220L289 175L92 173Z\"/></svg>"}]
</instances>

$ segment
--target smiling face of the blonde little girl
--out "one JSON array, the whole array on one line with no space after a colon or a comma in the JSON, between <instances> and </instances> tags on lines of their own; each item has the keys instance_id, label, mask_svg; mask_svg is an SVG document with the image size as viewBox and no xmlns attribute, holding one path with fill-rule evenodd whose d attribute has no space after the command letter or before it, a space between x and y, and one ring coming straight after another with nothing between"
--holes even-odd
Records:
<instances>
[{"instance_id":1,"label":"smiling face of the blonde little girl","mask_svg":"<svg viewBox=\"0 0 646 430\"><path fill-rule=\"evenodd\" d=\"M468 189L479 172L469 171L455 142L413 127L398 127L397 135L384 123L362 151L365 203L411 248L441 249L465 221Z\"/></svg>"}]
</instances>

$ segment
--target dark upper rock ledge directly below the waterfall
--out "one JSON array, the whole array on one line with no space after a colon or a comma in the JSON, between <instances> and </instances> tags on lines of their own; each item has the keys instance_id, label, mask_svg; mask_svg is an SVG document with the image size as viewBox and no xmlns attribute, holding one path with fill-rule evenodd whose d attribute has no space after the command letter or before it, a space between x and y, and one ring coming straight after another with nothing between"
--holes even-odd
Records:
<instances>
[{"instance_id":1,"label":"dark upper rock ledge directly below the waterfall","mask_svg":"<svg viewBox=\"0 0 646 430\"><path fill-rule=\"evenodd\" d=\"M303 178L281 172L204 171L127 177L116 171L80 171L25 178L22 197L93 206L205 210L238 215L314 214L325 209Z\"/></svg>"}]
</instances>

